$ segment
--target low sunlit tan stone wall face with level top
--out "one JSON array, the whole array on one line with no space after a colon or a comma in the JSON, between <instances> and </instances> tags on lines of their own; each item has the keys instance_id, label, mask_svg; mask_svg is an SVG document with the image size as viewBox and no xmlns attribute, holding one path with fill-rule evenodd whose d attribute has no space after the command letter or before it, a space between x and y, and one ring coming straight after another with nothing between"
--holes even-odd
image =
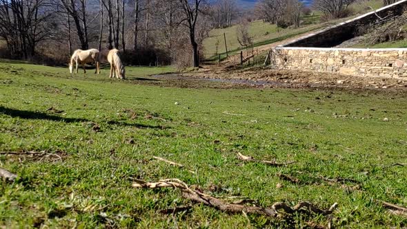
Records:
<instances>
[{"instance_id":1,"label":"low sunlit tan stone wall face with level top","mask_svg":"<svg viewBox=\"0 0 407 229\"><path fill-rule=\"evenodd\" d=\"M271 60L271 65L279 69L337 72L358 77L407 77L407 48L277 47L272 50Z\"/></svg>"}]
</instances>

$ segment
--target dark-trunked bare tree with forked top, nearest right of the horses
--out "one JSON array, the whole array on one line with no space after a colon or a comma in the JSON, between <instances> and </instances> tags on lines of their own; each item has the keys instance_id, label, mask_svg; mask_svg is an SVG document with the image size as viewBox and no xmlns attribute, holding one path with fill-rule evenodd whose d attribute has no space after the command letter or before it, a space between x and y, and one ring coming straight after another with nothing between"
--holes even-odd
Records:
<instances>
[{"instance_id":1,"label":"dark-trunked bare tree with forked top, nearest right of the horses","mask_svg":"<svg viewBox=\"0 0 407 229\"><path fill-rule=\"evenodd\" d=\"M190 45L192 47L192 61L194 67L199 67L199 53L197 43L197 21L203 8L203 0L178 0L179 8L183 14L180 24L188 28Z\"/></svg>"}]
</instances>

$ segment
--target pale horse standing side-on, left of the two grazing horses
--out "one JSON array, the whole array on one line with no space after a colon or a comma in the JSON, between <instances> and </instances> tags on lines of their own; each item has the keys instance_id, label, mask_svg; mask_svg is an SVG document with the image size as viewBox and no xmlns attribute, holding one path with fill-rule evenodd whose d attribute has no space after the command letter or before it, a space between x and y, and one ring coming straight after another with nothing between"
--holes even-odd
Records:
<instances>
[{"instance_id":1,"label":"pale horse standing side-on, left of the two grazing horses","mask_svg":"<svg viewBox=\"0 0 407 229\"><path fill-rule=\"evenodd\" d=\"M96 65L96 71L95 74L100 74L100 61L99 61L99 50L92 48L90 50L75 50L74 54L72 54L72 57L70 57L70 63L69 63L69 71L70 74L73 73L73 68L74 68L74 62L77 65L76 68L76 74L78 74L78 64L81 63L83 72L86 73L85 69L85 63L92 63L95 62Z\"/></svg>"}]
</instances>

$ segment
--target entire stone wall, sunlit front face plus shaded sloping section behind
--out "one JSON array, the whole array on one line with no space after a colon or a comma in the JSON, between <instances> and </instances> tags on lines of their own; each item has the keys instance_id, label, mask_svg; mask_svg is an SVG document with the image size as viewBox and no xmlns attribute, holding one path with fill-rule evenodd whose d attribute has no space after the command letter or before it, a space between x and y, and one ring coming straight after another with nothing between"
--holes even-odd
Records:
<instances>
[{"instance_id":1,"label":"entire stone wall, sunlit front face plus shaded sloping section behind","mask_svg":"<svg viewBox=\"0 0 407 229\"><path fill-rule=\"evenodd\" d=\"M395 12L401 14L400 9L405 10L406 6L407 0L402 0L376 12L278 46L272 50L271 64L274 68L287 70L407 79L407 48L330 48L352 38L341 33L352 34L350 28L356 24L373 22L377 19L376 14L381 16Z\"/></svg>"}]
</instances>

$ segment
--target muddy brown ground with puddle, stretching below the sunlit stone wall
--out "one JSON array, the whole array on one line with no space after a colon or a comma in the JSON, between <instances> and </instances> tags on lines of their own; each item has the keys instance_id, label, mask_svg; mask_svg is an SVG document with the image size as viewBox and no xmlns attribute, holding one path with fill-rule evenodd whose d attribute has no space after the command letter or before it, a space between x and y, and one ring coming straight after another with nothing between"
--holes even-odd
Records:
<instances>
[{"instance_id":1,"label":"muddy brown ground with puddle, stretching below the sunlit stone wall","mask_svg":"<svg viewBox=\"0 0 407 229\"><path fill-rule=\"evenodd\" d=\"M206 66L195 72L161 74L137 79L137 83L181 88L297 88L407 92L407 79L350 77L323 72L273 70L270 68L225 69Z\"/></svg>"}]
</instances>

